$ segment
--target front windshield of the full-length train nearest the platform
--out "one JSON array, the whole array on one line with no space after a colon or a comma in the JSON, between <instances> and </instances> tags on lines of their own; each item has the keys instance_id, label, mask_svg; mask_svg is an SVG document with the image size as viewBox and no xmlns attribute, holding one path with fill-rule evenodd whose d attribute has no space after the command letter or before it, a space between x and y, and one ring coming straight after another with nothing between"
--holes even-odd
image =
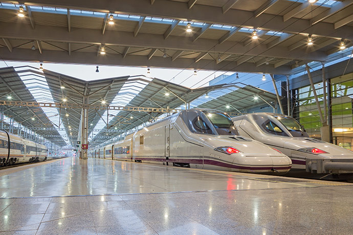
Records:
<instances>
[{"instance_id":1,"label":"front windshield of the full-length train nearest the platform","mask_svg":"<svg viewBox=\"0 0 353 235\"><path fill-rule=\"evenodd\" d=\"M204 111L219 135L239 135L232 120L226 113Z\"/></svg>"}]
</instances>

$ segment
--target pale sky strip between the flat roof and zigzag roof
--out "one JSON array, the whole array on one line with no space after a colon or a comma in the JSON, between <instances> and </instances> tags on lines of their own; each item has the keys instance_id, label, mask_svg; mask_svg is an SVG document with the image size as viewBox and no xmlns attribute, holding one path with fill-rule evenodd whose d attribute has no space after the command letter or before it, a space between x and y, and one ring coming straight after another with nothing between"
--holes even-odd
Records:
<instances>
[{"instance_id":1,"label":"pale sky strip between the flat roof and zigzag roof","mask_svg":"<svg viewBox=\"0 0 353 235\"><path fill-rule=\"evenodd\" d=\"M39 68L40 64L35 62L13 62L0 61L0 67L7 66L33 66ZM165 81L181 84L183 86L197 88L207 86L208 82L220 75L232 75L227 72L198 71L194 76L194 70L170 69L170 68L150 68L150 74L147 74L146 67L123 67L123 66L99 66L99 73L96 73L96 65L82 64L59 64L43 63L44 69L52 70L60 74L79 78L85 81L114 78L121 76L145 75L147 77L159 78Z\"/></svg>"}]
</instances>

